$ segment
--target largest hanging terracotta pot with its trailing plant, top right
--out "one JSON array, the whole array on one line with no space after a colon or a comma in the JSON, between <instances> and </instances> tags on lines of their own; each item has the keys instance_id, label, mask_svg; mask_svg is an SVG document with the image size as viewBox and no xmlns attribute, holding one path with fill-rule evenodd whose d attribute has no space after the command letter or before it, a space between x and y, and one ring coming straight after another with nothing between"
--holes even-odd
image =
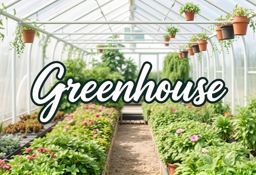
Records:
<instances>
[{"instance_id":1,"label":"largest hanging terracotta pot with its trailing plant, top right","mask_svg":"<svg viewBox=\"0 0 256 175\"><path fill-rule=\"evenodd\" d=\"M250 27L253 27L253 31L255 32L254 21L251 18L248 19L248 16L255 15L254 11L252 9L237 6L238 4L236 4L236 7L232 11L232 17L234 18L232 20L234 35L246 35L247 26L249 23Z\"/></svg>"}]
</instances>

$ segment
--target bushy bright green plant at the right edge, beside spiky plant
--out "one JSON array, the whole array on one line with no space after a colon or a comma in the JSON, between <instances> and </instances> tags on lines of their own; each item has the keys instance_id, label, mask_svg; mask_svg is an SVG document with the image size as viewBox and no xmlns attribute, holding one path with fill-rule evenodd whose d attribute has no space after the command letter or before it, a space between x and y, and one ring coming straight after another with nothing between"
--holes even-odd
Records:
<instances>
[{"instance_id":1,"label":"bushy bright green plant at the right edge, beside spiky plant","mask_svg":"<svg viewBox=\"0 0 256 175\"><path fill-rule=\"evenodd\" d=\"M256 150L256 114L248 108L239 108L238 114L233 119L234 138L242 143L245 148Z\"/></svg>"}]
</instances>

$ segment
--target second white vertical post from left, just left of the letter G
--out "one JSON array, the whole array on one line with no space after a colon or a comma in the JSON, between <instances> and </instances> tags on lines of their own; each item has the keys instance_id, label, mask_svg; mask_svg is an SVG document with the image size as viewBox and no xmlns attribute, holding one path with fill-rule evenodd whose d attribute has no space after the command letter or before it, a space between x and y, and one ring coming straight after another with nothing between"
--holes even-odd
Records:
<instances>
[{"instance_id":1,"label":"second white vertical post from left, just left of the letter G","mask_svg":"<svg viewBox=\"0 0 256 175\"><path fill-rule=\"evenodd\" d=\"M27 113L31 114L30 79L31 79L31 50L33 44L28 45L27 50Z\"/></svg>"}]
</instances>

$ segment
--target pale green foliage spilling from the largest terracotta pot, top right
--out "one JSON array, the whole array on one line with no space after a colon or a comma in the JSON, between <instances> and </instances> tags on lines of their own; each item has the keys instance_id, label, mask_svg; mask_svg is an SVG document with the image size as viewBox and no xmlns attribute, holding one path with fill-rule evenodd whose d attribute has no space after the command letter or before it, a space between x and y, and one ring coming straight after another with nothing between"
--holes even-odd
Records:
<instances>
[{"instance_id":1,"label":"pale green foliage spilling from the largest terracotta pot, top right","mask_svg":"<svg viewBox=\"0 0 256 175\"><path fill-rule=\"evenodd\" d=\"M253 9L246 9L245 7L238 7L238 4L236 4L236 6L234 7L234 9L232 10L232 17L236 17L236 16L247 16L247 17L252 17L255 16L256 13L254 12ZM254 20L252 20L252 18L248 18L250 21L250 27L252 27L253 31L255 32L255 24L254 24Z\"/></svg>"}]
</instances>

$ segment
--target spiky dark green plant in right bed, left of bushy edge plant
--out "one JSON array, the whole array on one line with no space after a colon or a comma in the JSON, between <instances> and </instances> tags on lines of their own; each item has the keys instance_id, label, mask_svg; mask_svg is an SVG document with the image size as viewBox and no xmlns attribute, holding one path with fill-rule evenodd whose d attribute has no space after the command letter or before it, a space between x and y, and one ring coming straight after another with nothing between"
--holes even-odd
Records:
<instances>
[{"instance_id":1,"label":"spiky dark green plant in right bed, left of bushy edge plant","mask_svg":"<svg viewBox=\"0 0 256 175\"><path fill-rule=\"evenodd\" d=\"M229 141L229 137L234 133L232 120L229 120L228 115L217 114L213 118L213 122L211 123L213 129L216 130L218 136L224 140Z\"/></svg>"}]
</instances>

